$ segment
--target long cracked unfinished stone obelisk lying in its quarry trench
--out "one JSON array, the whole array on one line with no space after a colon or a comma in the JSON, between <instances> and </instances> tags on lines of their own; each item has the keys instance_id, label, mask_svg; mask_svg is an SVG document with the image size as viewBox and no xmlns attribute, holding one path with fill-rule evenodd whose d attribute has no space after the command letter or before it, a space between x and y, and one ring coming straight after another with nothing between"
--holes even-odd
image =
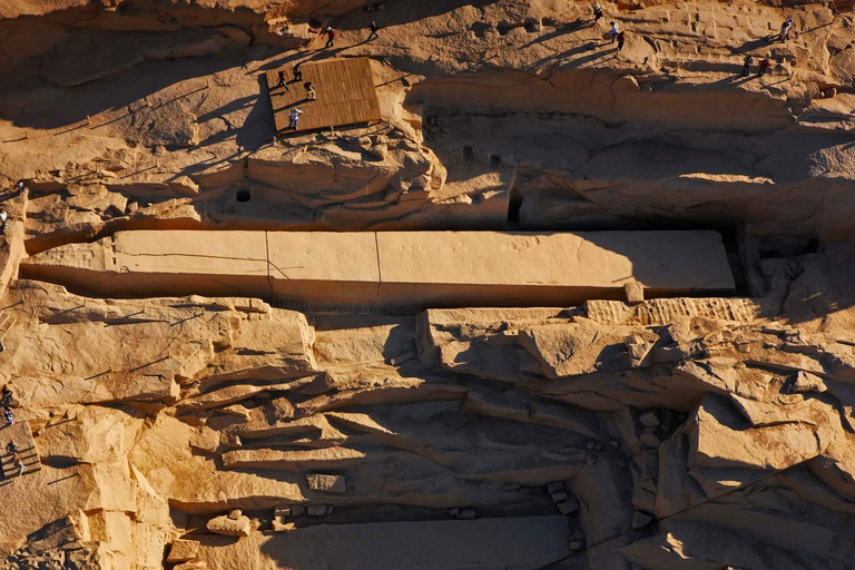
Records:
<instances>
[{"instance_id":1,"label":"long cracked unfinished stone obelisk lying in its quarry trench","mask_svg":"<svg viewBox=\"0 0 855 570\"><path fill-rule=\"evenodd\" d=\"M118 233L50 249L21 276L105 296L261 296L309 305L568 306L734 291L715 232Z\"/></svg>"}]
</instances>

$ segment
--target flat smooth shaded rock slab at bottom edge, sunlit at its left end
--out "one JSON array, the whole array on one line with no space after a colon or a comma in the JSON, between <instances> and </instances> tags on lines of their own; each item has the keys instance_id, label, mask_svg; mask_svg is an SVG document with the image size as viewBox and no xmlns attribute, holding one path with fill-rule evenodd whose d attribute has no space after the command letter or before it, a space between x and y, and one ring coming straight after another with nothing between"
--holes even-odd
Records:
<instances>
[{"instance_id":1,"label":"flat smooth shaded rock slab at bottom edge, sunlit at its left end","mask_svg":"<svg viewBox=\"0 0 855 570\"><path fill-rule=\"evenodd\" d=\"M532 570L569 557L569 534L568 518L559 515L318 524L203 544L199 558L213 568L240 560L254 570Z\"/></svg>"}]
</instances>

